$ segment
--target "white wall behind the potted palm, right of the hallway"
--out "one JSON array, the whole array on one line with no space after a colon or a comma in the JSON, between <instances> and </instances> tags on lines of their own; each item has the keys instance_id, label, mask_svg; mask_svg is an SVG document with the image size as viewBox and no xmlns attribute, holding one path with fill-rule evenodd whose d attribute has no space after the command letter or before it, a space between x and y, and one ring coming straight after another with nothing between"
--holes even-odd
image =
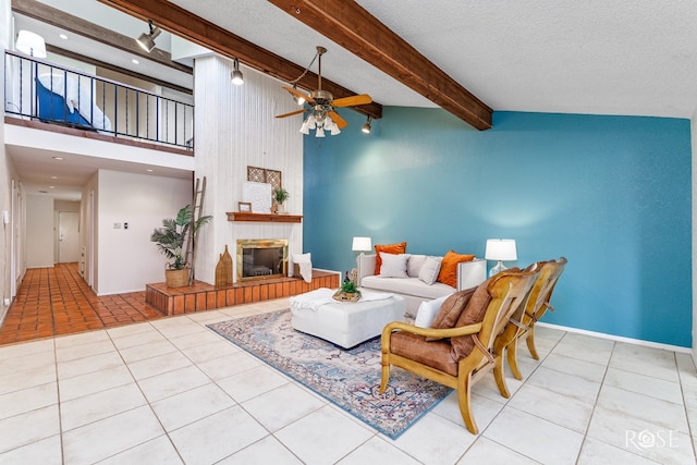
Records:
<instances>
[{"instance_id":1,"label":"white wall behind the potted palm, right of the hallway","mask_svg":"<svg viewBox=\"0 0 697 465\"><path fill-rule=\"evenodd\" d=\"M164 281L164 264L150 234L162 219L175 218L191 203L187 180L100 170L96 222L98 295L144 291ZM129 223L129 229L123 223ZM114 229L114 224L121 225Z\"/></svg>"}]
</instances>

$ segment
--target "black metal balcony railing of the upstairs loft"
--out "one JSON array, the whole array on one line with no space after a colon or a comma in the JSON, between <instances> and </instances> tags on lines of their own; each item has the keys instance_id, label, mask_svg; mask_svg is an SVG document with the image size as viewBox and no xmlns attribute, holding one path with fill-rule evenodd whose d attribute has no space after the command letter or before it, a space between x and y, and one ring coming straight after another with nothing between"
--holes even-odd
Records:
<instances>
[{"instance_id":1,"label":"black metal balcony railing of the upstairs loft","mask_svg":"<svg viewBox=\"0 0 697 465\"><path fill-rule=\"evenodd\" d=\"M194 106L5 51L5 114L193 148Z\"/></svg>"}]
</instances>

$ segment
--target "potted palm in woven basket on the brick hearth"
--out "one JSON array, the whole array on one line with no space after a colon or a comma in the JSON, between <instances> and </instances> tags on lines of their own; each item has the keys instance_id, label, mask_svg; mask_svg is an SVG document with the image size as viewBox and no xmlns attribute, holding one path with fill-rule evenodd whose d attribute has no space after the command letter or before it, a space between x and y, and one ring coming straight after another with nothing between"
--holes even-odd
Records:
<instances>
[{"instance_id":1,"label":"potted palm in woven basket on the brick hearth","mask_svg":"<svg viewBox=\"0 0 697 465\"><path fill-rule=\"evenodd\" d=\"M198 229L210 220L210 216L193 219L192 206L182 207L176 213L176 218L166 218L162 227L156 228L150 234L150 241L157 248L171 260L164 270L164 282L170 287L181 287L188 284L192 264L186 261L186 249L188 234L193 242L196 240Z\"/></svg>"}]
</instances>

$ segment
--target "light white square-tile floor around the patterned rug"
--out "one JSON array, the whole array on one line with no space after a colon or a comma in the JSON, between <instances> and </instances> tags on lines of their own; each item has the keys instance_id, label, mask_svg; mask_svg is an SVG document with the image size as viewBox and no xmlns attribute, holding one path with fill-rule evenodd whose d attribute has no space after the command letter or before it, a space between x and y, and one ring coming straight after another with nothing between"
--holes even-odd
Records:
<instances>
[{"instance_id":1,"label":"light white square-tile floor around the patterned rug","mask_svg":"<svg viewBox=\"0 0 697 465\"><path fill-rule=\"evenodd\" d=\"M689 355L538 327L526 376L390 440L205 325L286 299L0 347L0 463L694 464Z\"/></svg>"}]
</instances>

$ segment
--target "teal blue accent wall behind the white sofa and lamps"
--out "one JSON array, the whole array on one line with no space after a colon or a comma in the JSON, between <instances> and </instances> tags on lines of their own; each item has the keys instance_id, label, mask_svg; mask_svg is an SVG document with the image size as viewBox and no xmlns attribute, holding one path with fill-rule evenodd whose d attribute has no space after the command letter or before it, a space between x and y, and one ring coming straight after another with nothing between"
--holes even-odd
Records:
<instances>
[{"instance_id":1,"label":"teal blue accent wall behind the white sofa and lamps","mask_svg":"<svg viewBox=\"0 0 697 465\"><path fill-rule=\"evenodd\" d=\"M479 132L441 109L343 111L341 135L305 136L304 252L355 267L353 236L407 253L565 256L545 321L692 345L688 120L496 112Z\"/></svg>"}]
</instances>

